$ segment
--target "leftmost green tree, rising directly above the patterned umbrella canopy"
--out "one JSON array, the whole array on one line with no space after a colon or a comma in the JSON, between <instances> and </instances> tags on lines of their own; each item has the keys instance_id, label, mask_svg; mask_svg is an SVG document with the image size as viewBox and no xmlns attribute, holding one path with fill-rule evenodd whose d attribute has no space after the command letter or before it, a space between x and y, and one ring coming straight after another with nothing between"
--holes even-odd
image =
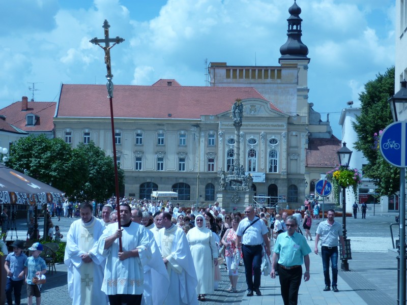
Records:
<instances>
[{"instance_id":1,"label":"leftmost green tree, rising directly above the patterned umbrella canopy","mask_svg":"<svg viewBox=\"0 0 407 305\"><path fill-rule=\"evenodd\" d=\"M30 135L10 147L7 166L64 191L67 175L72 170L71 146L60 138Z\"/></svg>"}]
</instances>

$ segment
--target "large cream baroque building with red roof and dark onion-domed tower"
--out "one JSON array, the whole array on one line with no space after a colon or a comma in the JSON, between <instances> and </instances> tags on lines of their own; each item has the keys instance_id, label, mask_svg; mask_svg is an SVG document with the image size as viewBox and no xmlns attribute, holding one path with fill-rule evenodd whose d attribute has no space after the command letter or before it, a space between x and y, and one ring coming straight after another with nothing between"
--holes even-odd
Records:
<instances>
[{"instance_id":1,"label":"large cream baroque building with red roof and dark onion-domed tower","mask_svg":"<svg viewBox=\"0 0 407 305\"><path fill-rule=\"evenodd\" d=\"M126 174L123 195L142 199L156 190L175 191L184 206L213 203L220 174L235 159L231 107L236 99L243 103L239 160L253 177L254 195L294 208L312 193L320 174L335 166L340 141L329 120L322 121L308 102L310 59L301 42L301 9L294 3L289 13L280 66L211 63L208 87L182 86L173 79L115 85L114 141ZM63 84L54 124L55 136L73 147L94 141L112 156L104 85Z\"/></svg>"}]
</instances>

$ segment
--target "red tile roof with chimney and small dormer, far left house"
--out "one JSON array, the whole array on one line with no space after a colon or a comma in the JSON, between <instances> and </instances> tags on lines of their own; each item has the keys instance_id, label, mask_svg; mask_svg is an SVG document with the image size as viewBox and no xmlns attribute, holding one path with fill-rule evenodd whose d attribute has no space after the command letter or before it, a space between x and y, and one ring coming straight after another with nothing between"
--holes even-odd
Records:
<instances>
[{"instance_id":1,"label":"red tile roof with chimney and small dormer, far left house","mask_svg":"<svg viewBox=\"0 0 407 305\"><path fill-rule=\"evenodd\" d=\"M54 129L53 116L55 114L55 102L28 102L26 111L21 110L22 102L15 102L10 106L0 109L0 115L6 116L6 123L23 131L52 131ZM34 126L26 126L25 115L33 113L38 117Z\"/></svg>"}]
</instances>

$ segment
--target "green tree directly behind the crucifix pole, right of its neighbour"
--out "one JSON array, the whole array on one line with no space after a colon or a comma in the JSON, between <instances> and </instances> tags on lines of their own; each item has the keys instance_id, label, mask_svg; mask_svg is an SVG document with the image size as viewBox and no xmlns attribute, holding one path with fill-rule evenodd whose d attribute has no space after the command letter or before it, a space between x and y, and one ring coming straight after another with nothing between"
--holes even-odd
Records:
<instances>
[{"instance_id":1,"label":"green tree directly behind the crucifix pole, right of its neighbour","mask_svg":"<svg viewBox=\"0 0 407 305\"><path fill-rule=\"evenodd\" d=\"M75 175L72 179L70 198L79 201L96 199L105 201L115 194L114 162L106 156L105 151L91 141L89 144L80 143L73 149L72 168ZM124 187L124 171L118 168L119 188Z\"/></svg>"}]
</instances>

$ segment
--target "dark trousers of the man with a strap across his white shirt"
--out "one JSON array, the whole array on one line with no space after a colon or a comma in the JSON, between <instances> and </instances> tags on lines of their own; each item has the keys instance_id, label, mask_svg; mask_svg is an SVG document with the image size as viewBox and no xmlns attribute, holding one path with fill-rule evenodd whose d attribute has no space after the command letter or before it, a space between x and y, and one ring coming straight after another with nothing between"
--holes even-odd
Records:
<instances>
[{"instance_id":1,"label":"dark trousers of the man with a strap across his white shirt","mask_svg":"<svg viewBox=\"0 0 407 305\"><path fill-rule=\"evenodd\" d=\"M242 245L243 263L245 264L247 289L256 290L260 287L261 280L261 245ZM254 280L253 280L254 273Z\"/></svg>"}]
</instances>

